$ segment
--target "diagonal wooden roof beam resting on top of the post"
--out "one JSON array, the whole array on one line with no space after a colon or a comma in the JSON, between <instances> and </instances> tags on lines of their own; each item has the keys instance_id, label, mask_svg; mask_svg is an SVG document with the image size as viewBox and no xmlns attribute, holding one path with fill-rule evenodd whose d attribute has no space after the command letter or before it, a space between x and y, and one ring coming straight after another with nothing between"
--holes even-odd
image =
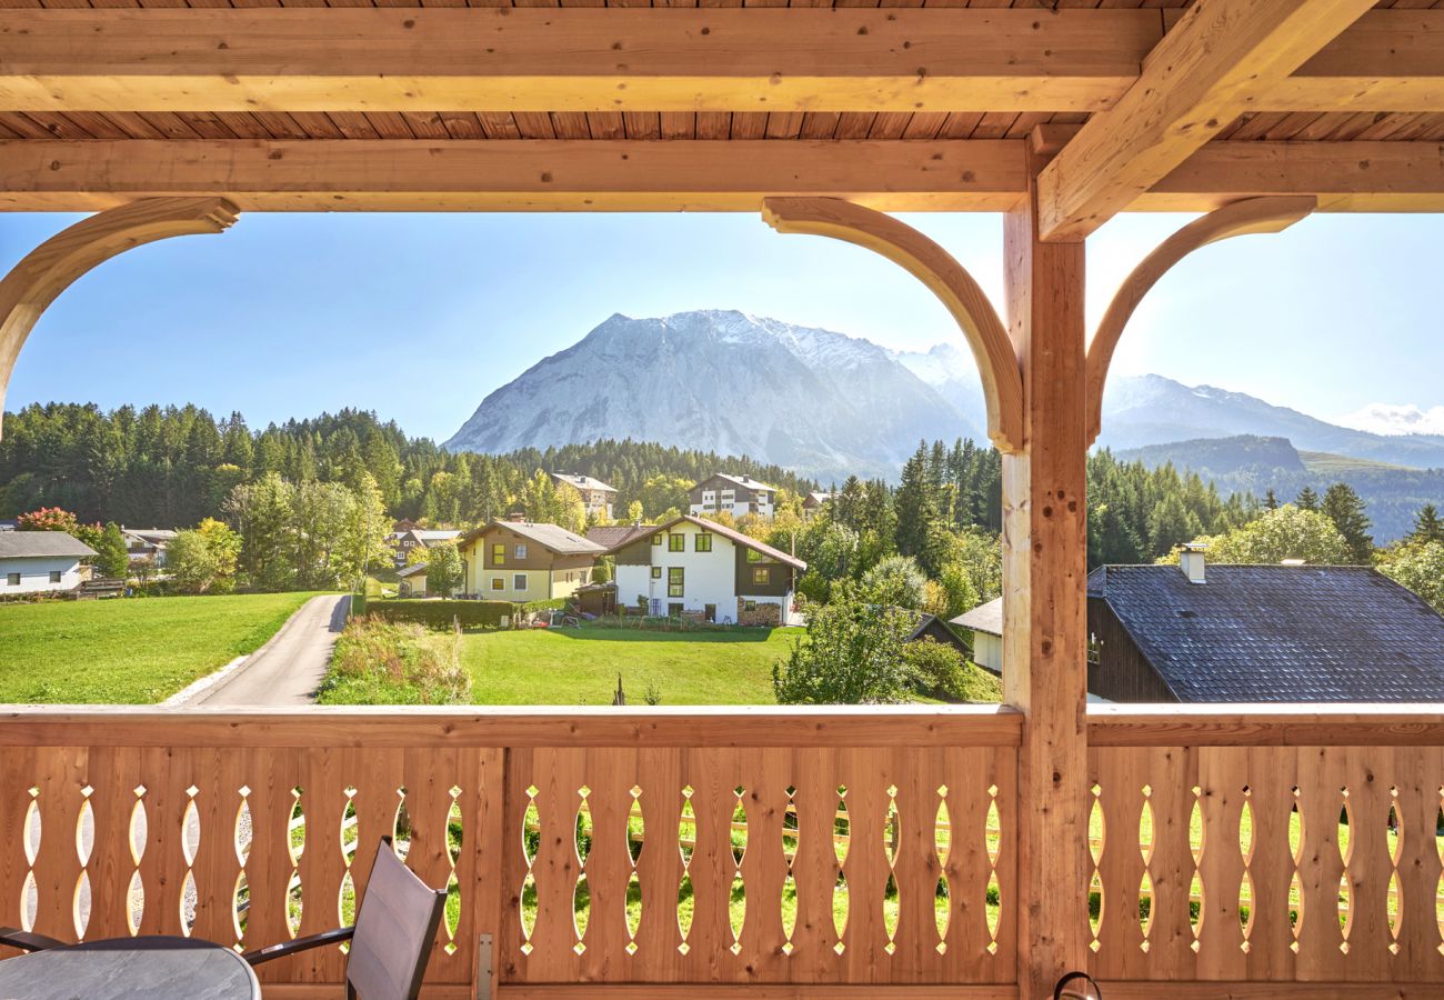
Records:
<instances>
[{"instance_id":1,"label":"diagonal wooden roof beam resting on top of the post","mask_svg":"<svg viewBox=\"0 0 1444 1000\"><path fill-rule=\"evenodd\" d=\"M1164 36L1119 103L1038 178L1040 231L1077 240L1125 210L1373 6L1206 0Z\"/></svg>"}]
</instances>

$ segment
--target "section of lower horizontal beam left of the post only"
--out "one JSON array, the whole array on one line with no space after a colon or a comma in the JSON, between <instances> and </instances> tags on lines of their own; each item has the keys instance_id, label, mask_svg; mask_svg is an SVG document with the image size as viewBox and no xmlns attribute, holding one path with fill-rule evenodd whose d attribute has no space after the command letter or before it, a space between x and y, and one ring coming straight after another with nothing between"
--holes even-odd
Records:
<instances>
[{"instance_id":1,"label":"section of lower horizontal beam left of the post only","mask_svg":"<svg viewBox=\"0 0 1444 1000\"><path fill-rule=\"evenodd\" d=\"M770 140L0 142L0 210L225 194L247 211L760 211L768 195L1005 211L1022 143Z\"/></svg>"}]
</instances>

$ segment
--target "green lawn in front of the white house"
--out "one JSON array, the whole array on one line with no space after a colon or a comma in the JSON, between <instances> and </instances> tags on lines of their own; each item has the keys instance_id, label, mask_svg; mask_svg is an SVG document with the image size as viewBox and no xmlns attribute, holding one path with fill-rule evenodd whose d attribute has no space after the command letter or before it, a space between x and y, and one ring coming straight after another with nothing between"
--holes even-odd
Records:
<instances>
[{"instance_id":1,"label":"green lawn in front of the white house","mask_svg":"<svg viewBox=\"0 0 1444 1000\"><path fill-rule=\"evenodd\" d=\"M461 662L481 705L609 705L622 675L627 701L648 685L663 705L771 705L773 663L801 629L640 632L531 629L472 632Z\"/></svg>"}]
</instances>

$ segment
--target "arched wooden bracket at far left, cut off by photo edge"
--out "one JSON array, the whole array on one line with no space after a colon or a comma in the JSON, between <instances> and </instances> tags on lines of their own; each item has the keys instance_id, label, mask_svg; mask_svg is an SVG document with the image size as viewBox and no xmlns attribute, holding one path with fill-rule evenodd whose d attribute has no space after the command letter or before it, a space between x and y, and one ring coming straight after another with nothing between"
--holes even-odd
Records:
<instances>
[{"instance_id":1,"label":"arched wooden bracket at far left, cut off by photo edge","mask_svg":"<svg viewBox=\"0 0 1444 1000\"><path fill-rule=\"evenodd\" d=\"M20 347L75 279L142 243L222 233L240 210L225 198L142 198L61 230L0 279L0 415Z\"/></svg>"}]
</instances>

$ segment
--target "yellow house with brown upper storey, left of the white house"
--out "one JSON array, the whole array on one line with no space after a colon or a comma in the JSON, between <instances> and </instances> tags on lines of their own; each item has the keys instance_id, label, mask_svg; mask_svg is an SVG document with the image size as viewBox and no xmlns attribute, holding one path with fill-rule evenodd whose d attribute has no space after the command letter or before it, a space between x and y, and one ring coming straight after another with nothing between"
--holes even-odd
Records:
<instances>
[{"instance_id":1,"label":"yellow house with brown upper storey, left of the white house","mask_svg":"<svg viewBox=\"0 0 1444 1000\"><path fill-rule=\"evenodd\" d=\"M494 520L458 543L464 591L484 601L549 601L592 579L606 549L557 525Z\"/></svg>"}]
</instances>

